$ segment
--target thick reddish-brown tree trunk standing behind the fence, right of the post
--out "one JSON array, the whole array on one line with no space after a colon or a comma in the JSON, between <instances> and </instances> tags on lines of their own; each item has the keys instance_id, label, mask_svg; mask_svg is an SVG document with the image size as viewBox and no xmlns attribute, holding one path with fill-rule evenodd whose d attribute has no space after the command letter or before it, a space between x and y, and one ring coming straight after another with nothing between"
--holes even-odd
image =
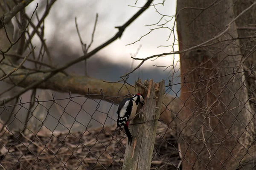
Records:
<instances>
[{"instance_id":1,"label":"thick reddish-brown tree trunk standing behind the fence, right of the post","mask_svg":"<svg viewBox=\"0 0 256 170\"><path fill-rule=\"evenodd\" d=\"M232 0L178 0L180 50L218 36L235 17ZM239 67L243 56L234 37L238 37L236 23L218 39L180 55L184 107L178 115L183 121L178 130L185 170L236 169L254 140L254 123L250 122L254 111L245 76L232 74L233 69L243 71Z\"/></svg>"}]
</instances>

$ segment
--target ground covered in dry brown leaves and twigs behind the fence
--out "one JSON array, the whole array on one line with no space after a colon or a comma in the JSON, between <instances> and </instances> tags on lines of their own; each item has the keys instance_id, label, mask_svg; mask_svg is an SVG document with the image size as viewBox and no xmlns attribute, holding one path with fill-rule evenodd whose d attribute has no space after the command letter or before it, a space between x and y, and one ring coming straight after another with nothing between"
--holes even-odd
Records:
<instances>
[{"instance_id":1,"label":"ground covered in dry brown leaves and twigs behind the fence","mask_svg":"<svg viewBox=\"0 0 256 170\"><path fill-rule=\"evenodd\" d=\"M0 169L7 170L119 170L126 138L114 134L116 126L85 132L53 133L42 127L37 133L0 133ZM176 139L166 125L159 125L151 169L177 169L180 163ZM114 135L113 135L114 134Z\"/></svg>"}]
</instances>

